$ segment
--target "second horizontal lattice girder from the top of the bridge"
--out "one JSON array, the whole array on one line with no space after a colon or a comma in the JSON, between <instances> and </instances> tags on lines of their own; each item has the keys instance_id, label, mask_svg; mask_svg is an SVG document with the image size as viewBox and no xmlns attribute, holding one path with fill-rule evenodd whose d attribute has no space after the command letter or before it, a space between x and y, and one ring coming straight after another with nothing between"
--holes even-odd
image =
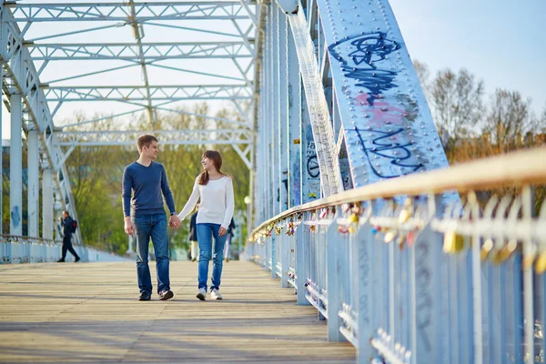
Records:
<instances>
[{"instance_id":1,"label":"second horizontal lattice girder from the top of the bridge","mask_svg":"<svg viewBox=\"0 0 546 364\"><path fill-rule=\"evenodd\" d=\"M25 44L34 60L159 60L184 58L251 58L246 42Z\"/></svg>"}]
</instances>

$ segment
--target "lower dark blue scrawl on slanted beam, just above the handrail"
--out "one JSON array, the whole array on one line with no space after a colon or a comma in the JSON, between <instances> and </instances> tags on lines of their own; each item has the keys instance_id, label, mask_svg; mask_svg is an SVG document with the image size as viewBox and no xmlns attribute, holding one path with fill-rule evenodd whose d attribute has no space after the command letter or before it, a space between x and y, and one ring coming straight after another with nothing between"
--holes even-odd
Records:
<instances>
[{"instance_id":1,"label":"lower dark blue scrawl on slanted beam, just above the handrail","mask_svg":"<svg viewBox=\"0 0 546 364\"><path fill-rule=\"evenodd\" d=\"M389 163L393 166L410 168L409 172L416 172L420 168L425 167L422 163L417 163L417 164L408 163L409 162L408 159L410 159L411 157L411 152L410 152L410 149L408 148L412 145L411 143L399 144L399 143L394 143L392 142L392 140L390 140L391 137L394 137L400 134L401 132L403 132L404 131L403 128L399 128L397 130L393 130L389 132L384 132L384 131L380 131L376 129L360 130L359 128L355 126L354 130L348 129L347 131L354 131L357 134L357 136L359 136L359 140L360 140L360 143L362 144L364 153L366 153L366 156L368 157L369 166L371 167L371 170L377 177L394 178L394 177L399 177L399 175L387 176L382 173L379 173L379 171L371 163L372 156L386 158L390 160ZM360 134L361 131L367 132L367 133L379 133L379 136L371 140L372 147L366 147L366 145L364 144L364 139L362 138ZM391 154L389 152L391 152ZM394 152L396 152L397 154L399 153L399 155L395 154ZM380 165L383 165L383 164L381 163ZM406 174L406 173L403 173L403 174Z\"/></svg>"}]
</instances>

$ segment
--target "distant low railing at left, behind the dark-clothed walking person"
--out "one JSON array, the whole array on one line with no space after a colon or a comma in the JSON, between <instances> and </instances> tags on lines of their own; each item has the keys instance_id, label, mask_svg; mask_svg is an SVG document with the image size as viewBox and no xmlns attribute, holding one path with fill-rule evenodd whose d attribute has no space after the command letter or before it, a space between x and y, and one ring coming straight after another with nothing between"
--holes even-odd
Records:
<instances>
[{"instance_id":1,"label":"distant low railing at left, behind the dark-clothed walking person","mask_svg":"<svg viewBox=\"0 0 546 364\"><path fill-rule=\"evenodd\" d=\"M46 263L61 258L63 244L45 238L0 235L0 264ZM74 245L78 256L86 262L125 261L128 258L87 245ZM68 254L67 261L73 259Z\"/></svg>"}]
</instances>

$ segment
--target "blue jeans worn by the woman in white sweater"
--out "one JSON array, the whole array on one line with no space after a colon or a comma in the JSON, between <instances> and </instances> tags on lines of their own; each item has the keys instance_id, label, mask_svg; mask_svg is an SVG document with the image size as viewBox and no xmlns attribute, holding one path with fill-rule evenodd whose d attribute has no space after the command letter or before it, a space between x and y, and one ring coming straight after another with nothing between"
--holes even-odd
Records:
<instances>
[{"instance_id":1,"label":"blue jeans worn by the woman in white sweater","mask_svg":"<svg viewBox=\"0 0 546 364\"><path fill-rule=\"evenodd\" d=\"M212 251L212 237L214 237L214 254L212 254L212 284L210 289L220 288L220 278L222 277L224 244L226 235L218 237L220 230L219 224L197 224L197 242L199 243L199 273L198 288L207 290L208 261Z\"/></svg>"}]
</instances>

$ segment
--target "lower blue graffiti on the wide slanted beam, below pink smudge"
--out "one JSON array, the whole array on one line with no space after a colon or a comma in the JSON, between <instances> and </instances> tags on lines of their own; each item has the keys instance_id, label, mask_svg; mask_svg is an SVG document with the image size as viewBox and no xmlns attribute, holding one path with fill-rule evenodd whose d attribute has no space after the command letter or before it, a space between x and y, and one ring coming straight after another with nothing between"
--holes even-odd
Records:
<instances>
[{"instance_id":1,"label":"lower blue graffiti on the wide slanted beam, below pink smudge","mask_svg":"<svg viewBox=\"0 0 546 364\"><path fill-rule=\"evenodd\" d=\"M353 131L359 137L371 170L377 177L399 177L399 170L402 171L402 175L406 175L424 168L422 163L412 158L409 149L411 143L400 140L399 136L404 131L403 128L385 132L371 127L366 130L355 127ZM366 133L369 136L368 140L365 140L363 136ZM381 167L383 169L380 169ZM386 167L391 168L384 170Z\"/></svg>"}]
</instances>

